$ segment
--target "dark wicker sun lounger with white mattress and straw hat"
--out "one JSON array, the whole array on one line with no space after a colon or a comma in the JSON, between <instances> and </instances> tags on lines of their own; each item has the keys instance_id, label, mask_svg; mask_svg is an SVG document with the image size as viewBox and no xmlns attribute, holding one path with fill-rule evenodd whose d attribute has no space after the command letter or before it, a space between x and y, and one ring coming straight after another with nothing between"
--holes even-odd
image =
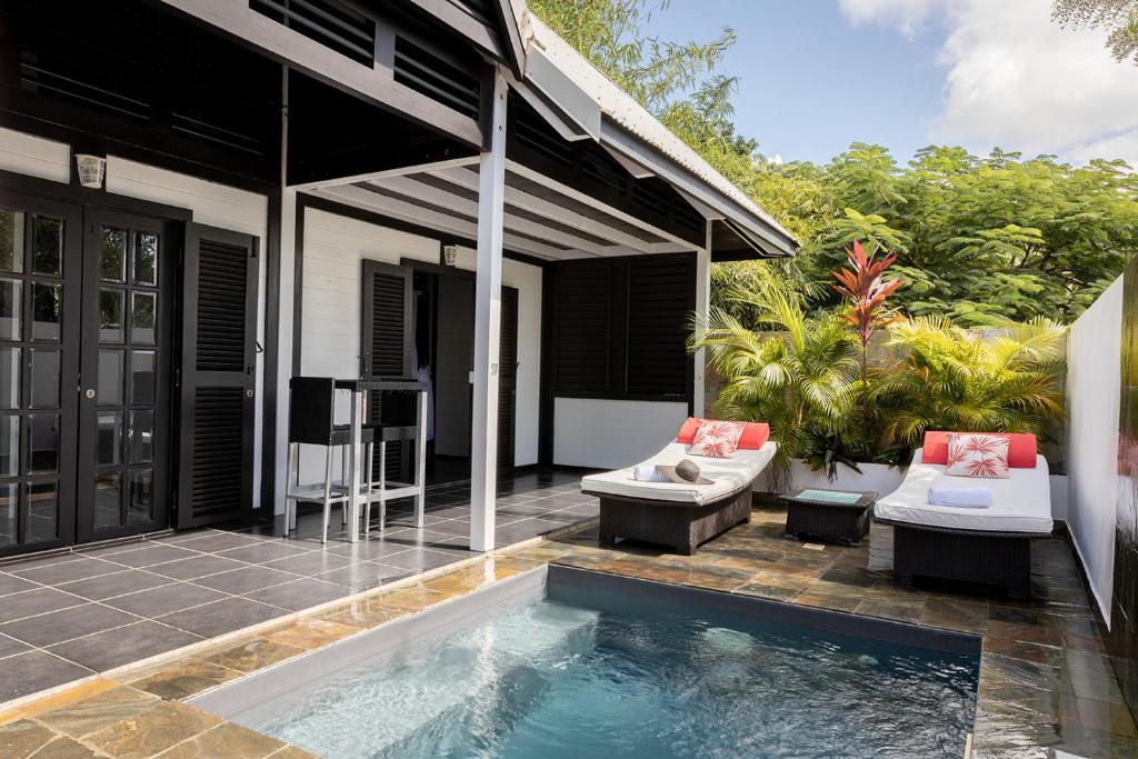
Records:
<instances>
[{"instance_id":1,"label":"dark wicker sun lounger with white mattress and straw hat","mask_svg":"<svg viewBox=\"0 0 1138 759\"><path fill-rule=\"evenodd\" d=\"M633 467L582 479L582 492L601 500L601 542L618 537L674 547L692 555L700 543L751 521L754 480L774 459L777 444L740 448L733 459L693 457L711 485L645 482ZM683 443L670 443L645 463L674 465L688 457Z\"/></svg>"}]
</instances>

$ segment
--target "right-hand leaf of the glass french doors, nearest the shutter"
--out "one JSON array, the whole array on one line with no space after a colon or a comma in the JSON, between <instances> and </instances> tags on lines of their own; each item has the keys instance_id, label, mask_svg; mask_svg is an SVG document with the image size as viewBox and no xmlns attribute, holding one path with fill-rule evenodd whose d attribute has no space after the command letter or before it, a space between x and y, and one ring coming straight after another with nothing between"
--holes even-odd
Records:
<instances>
[{"instance_id":1,"label":"right-hand leaf of the glass french doors, nearest the shutter","mask_svg":"<svg viewBox=\"0 0 1138 759\"><path fill-rule=\"evenodd\" d=\"M89 209L79 386L80 542L166 527L172 224Z\"/></svg>"}]
</instances>

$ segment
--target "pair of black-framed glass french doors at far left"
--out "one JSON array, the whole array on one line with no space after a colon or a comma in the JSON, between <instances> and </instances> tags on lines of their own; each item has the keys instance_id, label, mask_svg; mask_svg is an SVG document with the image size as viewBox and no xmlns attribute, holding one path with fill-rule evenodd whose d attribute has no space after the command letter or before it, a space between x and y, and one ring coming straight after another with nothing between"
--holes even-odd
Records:
<instances>
[{"instance_id":1,"label":"pair of black-framed glass french doors at far left","mask_svg":"<svg viewBox=\"0 0 1138 759\"><path fill-rule=\"evenodd\" d=\"M166 526L172 238L0 192L0 555Z\"/></svg>"}]
</instances>

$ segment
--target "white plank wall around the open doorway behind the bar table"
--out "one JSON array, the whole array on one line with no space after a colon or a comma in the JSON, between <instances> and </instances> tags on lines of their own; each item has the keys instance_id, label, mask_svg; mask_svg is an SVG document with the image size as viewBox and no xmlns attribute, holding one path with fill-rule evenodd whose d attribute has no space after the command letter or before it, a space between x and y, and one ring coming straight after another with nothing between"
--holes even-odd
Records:
<instances>
[{"instance_id":1,"label":"white plank wall around the open doorway behind the bar table","mask_svg":"<svg viewBox=\"0 0 1138 759\"><path fill-rule=\"evenodd\" d=\"M300 373L360 374L360 310L363 261L398 264L414 258L437 264L438 240L308 208L304 216L304 282ZM460 248L457 267L475 270L475 251ZM502 283L518 289L518 396L514 460L537 463L541 403L542 270L502 263ZM346 404L341 404L346 406ZM341 421L347 421L341 411ZM302 479L320 473L322 459L302 452ZM338 465L338 464L337 464Z\"/></svg>"}]
</instances>

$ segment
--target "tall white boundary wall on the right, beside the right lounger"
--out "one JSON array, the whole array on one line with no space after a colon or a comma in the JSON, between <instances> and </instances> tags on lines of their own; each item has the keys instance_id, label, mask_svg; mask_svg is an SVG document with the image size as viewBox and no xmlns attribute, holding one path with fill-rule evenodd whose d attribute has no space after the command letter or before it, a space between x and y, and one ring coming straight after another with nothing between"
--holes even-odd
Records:
<instances>
[{"instance_id":1,"label":"tall white boundary wall on the right, beside the right lounger","mask_svg":"<svg viewBox=\"0 0 1138 759\"><path fill-rule=\"evenodd\" d=\"M1107 625L1114 574L1121 360L1120 277L1071 325L1067 336L1067 527Z\"/></svg>"}]
</instances>

